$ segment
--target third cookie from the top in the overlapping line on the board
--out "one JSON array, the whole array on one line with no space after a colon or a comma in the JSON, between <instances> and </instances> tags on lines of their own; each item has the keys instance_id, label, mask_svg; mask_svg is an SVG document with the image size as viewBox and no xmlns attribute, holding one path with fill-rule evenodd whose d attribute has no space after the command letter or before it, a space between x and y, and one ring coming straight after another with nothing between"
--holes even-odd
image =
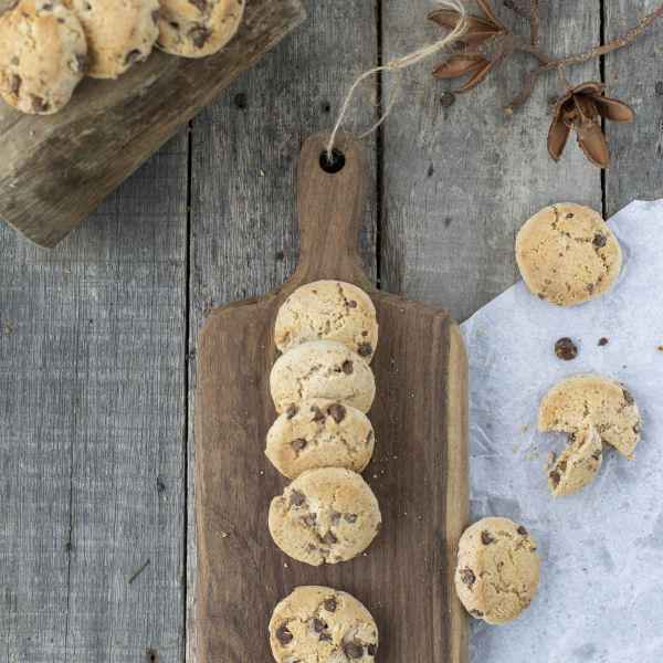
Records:
<instances>
[{"instance_id":1,"label":"third cookie from the top in the overlapping line on the board","mask_svg":"<svg viewBox=\"0 0 663 663\"><path fill-rule=\"evenodd\" d=\"M361 472L372 455L373 430L364 412L324 398L291 406L267 433L265 454L288 478L315 467Z\"/></svg>"}]
</instances>

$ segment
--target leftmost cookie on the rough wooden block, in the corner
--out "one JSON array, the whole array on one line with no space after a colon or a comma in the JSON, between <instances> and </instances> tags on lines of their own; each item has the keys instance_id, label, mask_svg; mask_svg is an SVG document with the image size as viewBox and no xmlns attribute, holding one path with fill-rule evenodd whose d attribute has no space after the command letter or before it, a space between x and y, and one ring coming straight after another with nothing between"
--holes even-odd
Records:
<instances>
[{"instance_id":1,"label":"leftmost cookie on the rough wooden block, in the corner","mask_svg":"<svg viewBox=\"0 0 663 663\"><path fill-rule=\"evenodd\" d=\"M0 92L23 113L56 113L90 61L76 17L50 0L20 0L0 14Z\"/></svg>"}]
</instances>

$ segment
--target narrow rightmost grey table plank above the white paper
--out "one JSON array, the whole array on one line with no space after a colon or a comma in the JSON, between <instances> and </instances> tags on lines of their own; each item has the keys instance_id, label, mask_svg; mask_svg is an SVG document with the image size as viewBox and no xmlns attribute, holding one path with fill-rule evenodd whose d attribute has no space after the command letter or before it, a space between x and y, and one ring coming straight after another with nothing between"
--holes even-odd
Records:
<instances>
[{"instance_id":1,"label":"narrow rightmost grey table plank above the white paper","mask_svg":"<svg viewBox=\"0 0 663 663\"><path fill-rule=\"evenodd\" d=\"M656 0L636 4L628 0L604 3L606 40L630 30L642 17L659 7ZM617 53L606 56L606 94L630 104L635 122L628 125L606 123L612 152L606 170L607 213L614 214L631 200L663 198L663 20Z\"/></svg>"}]
</instances>

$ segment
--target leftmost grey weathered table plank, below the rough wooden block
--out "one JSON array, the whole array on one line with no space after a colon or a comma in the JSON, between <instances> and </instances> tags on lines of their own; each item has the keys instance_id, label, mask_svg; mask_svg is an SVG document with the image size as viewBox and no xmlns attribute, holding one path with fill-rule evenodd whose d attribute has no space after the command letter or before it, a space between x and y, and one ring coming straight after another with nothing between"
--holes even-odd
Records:
<instances>
[{"instance_id":1,"label":"leftmost grey weathered table plank, below the rough wooden block","mask_svg":"<svg viewBox=\"0 0 663 663\"><path fill-rule=\"evenodd\" d=\"M0 227L3 661L182 661L186 175L181 133L52 253Z\"/></svg>"}]
</instances>

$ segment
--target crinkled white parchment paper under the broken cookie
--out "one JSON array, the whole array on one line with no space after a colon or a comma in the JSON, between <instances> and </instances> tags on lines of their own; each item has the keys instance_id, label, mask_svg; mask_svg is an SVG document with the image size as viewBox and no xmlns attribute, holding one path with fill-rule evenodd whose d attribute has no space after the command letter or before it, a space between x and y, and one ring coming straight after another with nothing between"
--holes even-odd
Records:
<instances>
[{"instance_id":1,"label":"crinkled white parchment paper under the broken cookie","mask_svg":"<svg viewBox=\"0 0 663 663\"><path fill-rule=\"evenodd\" d=\"M520 282L462 325L471 522L522 523L541 565L518 620L472 620L472 663L663 660L663 200L632 202L609 225L623 265L607 295L559 307ZM555 356L564 336L578 347L571 361ZM559 380L592 371L633 393L642 436L633 460L609 450L589 486L552 499L544 463L565 435L537 432L538 406Z\"/></svg>"}]
</instances>

